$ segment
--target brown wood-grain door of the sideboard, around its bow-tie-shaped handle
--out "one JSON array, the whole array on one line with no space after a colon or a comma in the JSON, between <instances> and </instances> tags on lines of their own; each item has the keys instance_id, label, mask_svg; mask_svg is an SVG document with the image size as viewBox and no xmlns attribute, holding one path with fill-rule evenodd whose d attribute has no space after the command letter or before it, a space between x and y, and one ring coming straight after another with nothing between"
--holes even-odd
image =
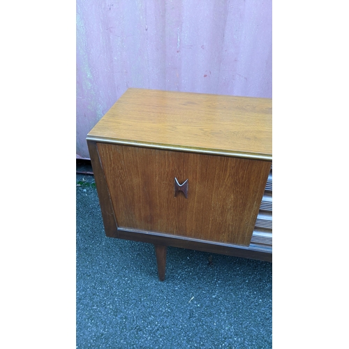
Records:
<instances>
[{"instance_id":1,"label":"brown wood-grain door of the sideboard, around its bow-tie-shaped handle","mask_svg":"<svg viewBox=\"0 0 349 349\"><path fill-rule=\"evenodd\" d=\"M269 161L98 143L117 225L248 246ZM188 179L188 198L174 196Z\"/></svg>"}]
</instances>

